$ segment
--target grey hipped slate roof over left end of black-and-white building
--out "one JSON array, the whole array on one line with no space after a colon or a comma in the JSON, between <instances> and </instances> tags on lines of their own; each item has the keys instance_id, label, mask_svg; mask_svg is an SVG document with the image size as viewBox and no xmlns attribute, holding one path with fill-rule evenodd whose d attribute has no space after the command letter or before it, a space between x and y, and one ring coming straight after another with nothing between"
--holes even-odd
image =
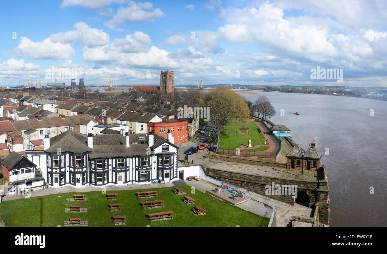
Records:
<instances>
[{"instance_id":1,"label":"grey hipped slate roof over left end of black-and-white building","mask_svg":"<svg viewBox=\"0 0 387 254\"><path fill-rule=\"evenodd\" d=\"M91 151L91 148L87 146L87 137L70 130L50 138L50 148L46 149L46 152L56 153L58 148L62 152L82 153Z\"/></svg>"}]
</instances>

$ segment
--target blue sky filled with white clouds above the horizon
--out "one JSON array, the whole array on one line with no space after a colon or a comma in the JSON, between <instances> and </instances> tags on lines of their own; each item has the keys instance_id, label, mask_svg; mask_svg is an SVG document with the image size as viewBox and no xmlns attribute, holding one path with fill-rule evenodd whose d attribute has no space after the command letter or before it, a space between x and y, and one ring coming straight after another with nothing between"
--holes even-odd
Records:
<instances>
[{"instance_id":1,"label":"blue sky filled with white clouds above the horizon","mask_svg":"<svg viewBox=\"0 0 387 254\"><path fill-rule=\"evenodd\" d=\"M1 0L0 86L387 87L384 0ZM324 74L325 73L325 74Z\"/></svg>"}]
</instances>

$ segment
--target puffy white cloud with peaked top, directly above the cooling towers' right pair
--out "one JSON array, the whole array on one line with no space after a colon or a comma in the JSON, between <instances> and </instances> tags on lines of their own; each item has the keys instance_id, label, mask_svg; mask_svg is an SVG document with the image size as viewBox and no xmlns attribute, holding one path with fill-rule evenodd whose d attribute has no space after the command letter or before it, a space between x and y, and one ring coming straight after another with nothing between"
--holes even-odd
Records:
<instances>
[{"instance_id":1,"label":"puffy white cloud with peaked top, directly above the cooling towers' right pair","mask_svg":"<svg viewBox=\"0 0 387 254\"><path fill-rule=\"evenodd\" d=\"M103 46L110 42L110 36L102 29L89 27L84 22L74 24L76 30L51 34L50 40L55 43L73 43L87 46Z\"/></svg>"}]
</instances>

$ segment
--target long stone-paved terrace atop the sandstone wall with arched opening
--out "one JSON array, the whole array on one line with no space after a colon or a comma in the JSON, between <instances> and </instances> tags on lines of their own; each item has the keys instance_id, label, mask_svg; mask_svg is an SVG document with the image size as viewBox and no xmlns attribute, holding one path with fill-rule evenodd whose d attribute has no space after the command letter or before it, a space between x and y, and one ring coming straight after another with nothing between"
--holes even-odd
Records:
<instances>
[{"instance_id":1,"label":"long stone-paved terrace atop the sandstone wall with arched opening","mask_svg":"<svg viewBox=\"0 0 387 254\"><path fill-rule=\"evenodd\" d=\"M227 170L231 172L237 172L241 174L252 174L258 176L295 179L295 180L307 180L318 181L317 172L304 170L304 174L301 175L301 170L283 169L278 167L259 166L252 164L242 164L237 162L225 162L214 159L195 159L192 165L203 165L204 168L212 168L219 170Z\"/></svg>"}]
</instances>

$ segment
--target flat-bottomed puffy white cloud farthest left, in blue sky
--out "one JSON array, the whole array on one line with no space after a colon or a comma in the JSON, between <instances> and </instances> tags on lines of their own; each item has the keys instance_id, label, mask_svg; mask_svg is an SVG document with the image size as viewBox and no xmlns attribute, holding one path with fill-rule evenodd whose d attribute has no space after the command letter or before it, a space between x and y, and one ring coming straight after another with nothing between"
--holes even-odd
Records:
<instances>
[{"instance_id":1,"label":"flat-bottomed puffy white cloud farthest left, in blue sky","mask_svg":"<svg viewBox=\"0 0 387 254\"><path fill-rule=\"evenodd\" d=\"M18 56L26 55L31 59L70 59L75 55L70 44L53 43L50 38L42 42L33 42L23 36L15 52Z\"/></svg>"}]
</instances>

